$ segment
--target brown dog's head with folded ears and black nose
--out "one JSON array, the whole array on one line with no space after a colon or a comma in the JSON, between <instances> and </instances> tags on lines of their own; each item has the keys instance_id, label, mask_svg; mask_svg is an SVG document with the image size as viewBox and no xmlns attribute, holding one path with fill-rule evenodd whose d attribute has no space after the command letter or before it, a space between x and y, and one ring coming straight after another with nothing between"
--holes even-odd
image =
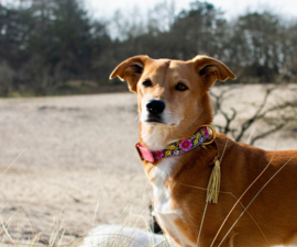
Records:
<instances>
[{"instance_id":1,"label":"brown dog's head with folded ears and black nose","mask_svg":"<svg viewBox=\"0 0 297 247\"><path fill-rule=\"evenodd\" d=\"M207 56L187 61L135 56L122 61L110 79L117 76L138 94L141 127L175 131L173 138L210 123L209 88L216 80L235 79L224 64Z\"/></svg>"}]
</instances>

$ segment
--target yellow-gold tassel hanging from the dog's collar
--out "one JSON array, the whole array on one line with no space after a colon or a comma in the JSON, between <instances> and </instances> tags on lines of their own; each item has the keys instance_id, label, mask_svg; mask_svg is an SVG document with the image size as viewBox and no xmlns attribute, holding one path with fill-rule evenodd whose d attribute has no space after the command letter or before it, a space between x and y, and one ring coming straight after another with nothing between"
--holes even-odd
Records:
<instances>
[{"instance_id":1,"label":"yellow-gold tassel hanging from the dog's collar","mask_svg":"<svg viewBox=\"0 0 297 247\"><path fill-rule=\"evenodd\" d=\"M220 183L221 183L220 161L216 159L215 167L208 181L207 199L206 199L207 202L218 203Z\"/></svg>"}]
</instances>

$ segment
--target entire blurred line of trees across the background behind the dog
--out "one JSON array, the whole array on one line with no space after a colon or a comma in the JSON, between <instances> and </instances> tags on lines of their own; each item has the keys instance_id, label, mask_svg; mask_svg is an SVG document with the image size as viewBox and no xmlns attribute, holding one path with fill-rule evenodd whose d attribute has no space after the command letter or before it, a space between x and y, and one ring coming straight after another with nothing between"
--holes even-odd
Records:
<instances>
[{"instance_id":1,"label":"entire blurred line of trees across the background behind the dog","mask_svg":"<svg viewBox=\"0 0 297 247\"><path fill-rule=\"evenodd\" d=\"M72 80L98 87L121 60L138 54L221 59L240 80L294 81L297 25L271 13L248 13L228 22L208 2L194 1L178 14L160 2L148 22L118 11L109 22L92 20L79 0L28 0L0 4L0 94L53 93ZM84 91L84 90L82 90ZM95 90L96 91L96 90Z\"/></svg>"}]
</instances>

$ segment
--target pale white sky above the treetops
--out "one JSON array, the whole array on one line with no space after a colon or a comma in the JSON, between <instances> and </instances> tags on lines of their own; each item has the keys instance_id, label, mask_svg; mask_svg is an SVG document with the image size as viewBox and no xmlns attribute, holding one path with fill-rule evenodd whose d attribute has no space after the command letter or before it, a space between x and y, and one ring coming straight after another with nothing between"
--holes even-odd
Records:
<instances>
[{"instance_id":1,"label":"pale white sky above the treetops","mask_svg":"<svg viewBox=\"0 0 297 247\"><path fill-rule=\"evenodd\" d=\"M109 19L114 11L120 9L124 12L133 12L135 5L139 10L146 14L146 10L152 9L157 2L164 0L85 0L88 9L95 18ZM165 0L166 1L166 0ZM167 0L170 2L172 0ZM189 7L193 0L175 0L176 11L179 12L184 8ZM297 19L297 0L209 0L216 8L221 8L226 11L226 18L232 19L238 14L243 14L246 11L262 12L268 10L286 18Z\"/></svg>"}]
</instances>

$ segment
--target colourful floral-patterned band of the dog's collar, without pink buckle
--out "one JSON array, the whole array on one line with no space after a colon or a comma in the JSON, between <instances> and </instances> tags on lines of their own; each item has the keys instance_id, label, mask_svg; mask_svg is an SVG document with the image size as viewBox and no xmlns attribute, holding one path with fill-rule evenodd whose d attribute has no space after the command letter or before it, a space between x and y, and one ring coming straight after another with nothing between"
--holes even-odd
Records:
<instances>
[{"instance_id":1,"label":"colourful floral-patterned band of the dog's collar, without pink buckle","mask_svg":"<svg viewBox=\"0 0 297 247\"><path fill-rule=\"evenodd\" d=\"M169 158L198 147L209 136L207 127L199 128L191 137L168 144L162 150L152 151L155 159Z\"/></svg>"}]
</instances>

